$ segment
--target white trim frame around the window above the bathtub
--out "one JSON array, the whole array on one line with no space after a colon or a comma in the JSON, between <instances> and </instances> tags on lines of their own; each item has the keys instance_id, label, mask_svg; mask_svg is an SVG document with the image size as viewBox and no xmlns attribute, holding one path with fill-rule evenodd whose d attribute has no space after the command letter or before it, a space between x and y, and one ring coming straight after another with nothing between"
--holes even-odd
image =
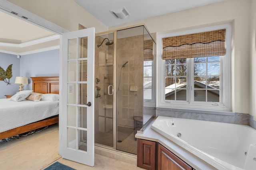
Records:
<instances>
[{"instance_id":1,"label":"white trim frame around the window above the bathtub","mask_svg":"<svg viewBox=\"0 0 256 170\"><path fill-rule=\"evenodd\" d=\"M162 60L162 39L166 37L173 37L179 35L187 35L192 33L200 33L206 31L214 31L218 29L226 29L226 55L223 57L223 64L221 70L222 81L224 84L223 92L223 105L214 106L212 104L206 104L205 102L194 102L193 104L188 104L188 102L170 101L166 103L164 99L164 60ZM188 31L180 31L175 33L166 33L158 35L158 48L156 57L156 107L162 108L174 108L174 109L192 109L196 110L206 110L206 111L231 111L231 24L216 25L212 27L205 27L200 29L193 29Z\"/></svg>"}]
</instances>

